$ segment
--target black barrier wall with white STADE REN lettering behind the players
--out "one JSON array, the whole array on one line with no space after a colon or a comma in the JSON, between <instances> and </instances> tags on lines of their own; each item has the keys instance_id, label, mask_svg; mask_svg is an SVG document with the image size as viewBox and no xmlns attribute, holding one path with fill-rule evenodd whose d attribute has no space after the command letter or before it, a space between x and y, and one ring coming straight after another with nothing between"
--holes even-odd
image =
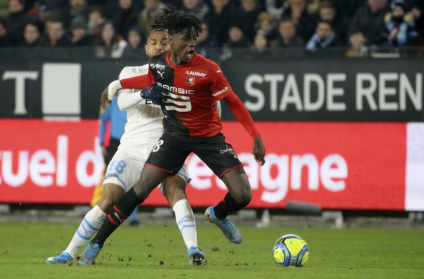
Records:
<instances>
[{"instance_id":1,"label":"black barrier wall with white STADE REN lettering behind the players","mask_svg":"<svg viewBox=\"0 0 424 279\"><path fill-rule=\"evenodd\" d=\"M421 122L422 58L228 59L220 66L255 121ZM134 60L5 60L0 117L96 119L102 90ZM223 106L223 120L234 120Z\"/></svg>"}]
</instances>

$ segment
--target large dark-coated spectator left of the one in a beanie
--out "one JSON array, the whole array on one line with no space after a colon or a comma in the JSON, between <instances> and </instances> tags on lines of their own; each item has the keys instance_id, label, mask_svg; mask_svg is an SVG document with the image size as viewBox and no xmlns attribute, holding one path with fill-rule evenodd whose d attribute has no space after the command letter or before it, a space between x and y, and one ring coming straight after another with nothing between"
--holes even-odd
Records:
<instances>
[{"instance_id":1,"label":"large dark-coated spectator left of the one in a beanie","mask_svg":"<svg viewBox=\"0 0 424 279\"><path fill-rule=\"evenodd\" d=\"M367 38L368 45L377 45L384 32L384 16L389 12L387 0L368 0L360 7L349 26L348 34L359 29Z\"/></svg>"}]
</instances>

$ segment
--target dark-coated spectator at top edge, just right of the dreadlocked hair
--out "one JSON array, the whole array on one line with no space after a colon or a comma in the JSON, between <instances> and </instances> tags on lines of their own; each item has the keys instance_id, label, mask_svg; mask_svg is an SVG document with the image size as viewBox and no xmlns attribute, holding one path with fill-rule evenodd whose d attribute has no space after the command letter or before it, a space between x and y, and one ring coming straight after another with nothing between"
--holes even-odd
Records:
<instances>
[{"instance_id":1,"label":"dark-coated spectator at top edge, just right of the dreadlocked hair","mask_svg":"<svg viewBox=\"0 0 424 279\"><path fill-rule=\"evenodd\" d=\"M228 39L228 29L235 10L228 0L212 0L212 8L207 12L204 21L209 24L210 35L216 36L220 46Z\"/></svg>"}]
</instances>

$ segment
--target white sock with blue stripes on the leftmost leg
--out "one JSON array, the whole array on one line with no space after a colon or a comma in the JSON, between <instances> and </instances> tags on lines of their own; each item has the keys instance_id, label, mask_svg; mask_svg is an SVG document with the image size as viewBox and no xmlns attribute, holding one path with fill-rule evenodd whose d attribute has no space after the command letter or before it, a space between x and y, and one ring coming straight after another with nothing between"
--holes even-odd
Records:
<instances>
[{"instance_id":1,"label":"white sock with blue stripes on the leftmost leg","mask_svg":"<svg viewBox=\"0 0 424 279\"><path fill-rule=\"evenodd\" d=\"M69 255L75 257L75 253L93 237L106 217L107 214L97 205L88 211L64 252L68 252Z\"/></svg>"}]
</instances>

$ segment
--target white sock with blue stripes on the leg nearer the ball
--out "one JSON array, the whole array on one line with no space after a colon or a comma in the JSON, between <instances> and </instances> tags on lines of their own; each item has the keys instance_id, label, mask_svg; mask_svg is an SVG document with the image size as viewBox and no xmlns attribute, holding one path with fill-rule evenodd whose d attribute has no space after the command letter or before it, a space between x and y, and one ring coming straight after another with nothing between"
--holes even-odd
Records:
<instances>
[{"instance_id":1,"label":"white sock with blue stripes on the leg nearer the ball","mask_svg":"<svg viewBox=\"0 0 424 279\"><path fill-rule=\"evenodd\" d=\"M175 212L175 220L186 243L187 250L191 246L197 247L196 221L188 201L185 199L177 201L172 210Z\"/></svg>"}]
</instances>

